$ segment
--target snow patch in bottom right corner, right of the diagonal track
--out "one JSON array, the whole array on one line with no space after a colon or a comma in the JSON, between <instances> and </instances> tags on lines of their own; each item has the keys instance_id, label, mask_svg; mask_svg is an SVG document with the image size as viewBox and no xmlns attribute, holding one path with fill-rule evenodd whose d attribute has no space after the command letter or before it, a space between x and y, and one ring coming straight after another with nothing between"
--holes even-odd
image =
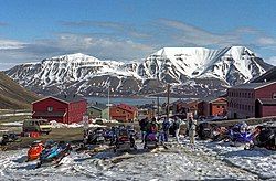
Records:
<instances>
[{"instance_id":1,"label":"snow patch in bottom right corner, right of the diagonal track","mask_svg":"<svg viewBox=\"0 0 276 181\"><path fill-rule=\"evenodd\" d=\"M276 178L276 151L264 148L244 150L244 147L232 147L230 142L201 141L198 148L216 156L230 164L257 174L261 179Z\"/></svg>"}]
</instances>

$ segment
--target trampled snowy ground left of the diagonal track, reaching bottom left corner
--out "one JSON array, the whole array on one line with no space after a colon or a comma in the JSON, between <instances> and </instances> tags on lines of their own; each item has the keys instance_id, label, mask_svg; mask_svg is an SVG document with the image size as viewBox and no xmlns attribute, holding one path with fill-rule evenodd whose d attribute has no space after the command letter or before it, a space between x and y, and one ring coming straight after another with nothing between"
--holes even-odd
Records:
<instances>
[{"instance_id":1,"label":"trampled snowy ground left of the diagonal track, reaching bottom left corner","mask_svg":"<svg viewBox=\"0 0 276 181\"><path fill-rule=\"evenodd\" d=\"M193 151L189 146L171 143L168 150L114 153L112 150L92 157L72 152L63 164L35 169L24 162L26 149L0 155L0 177L3 180L254 180L254 173L232 167L204 153L204 147Z\"/></svg>"}]
</instances>

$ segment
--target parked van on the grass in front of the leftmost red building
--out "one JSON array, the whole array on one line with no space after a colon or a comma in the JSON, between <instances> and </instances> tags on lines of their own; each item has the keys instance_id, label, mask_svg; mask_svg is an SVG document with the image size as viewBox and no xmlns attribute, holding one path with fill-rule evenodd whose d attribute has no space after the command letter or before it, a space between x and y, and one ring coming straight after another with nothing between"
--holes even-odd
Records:
<instances>
[{"instance_id":1,"label":"parked van on the grass in front of the leftmost red building","mask_svg":"<svg viewBox=\"0 0 276 181\"><path fill-rule=\"evenodd\" d=\"M52 126L46 119L25 119L22 129L23 132L49 134L52 131Z\"/></svg>"}]
</instances>

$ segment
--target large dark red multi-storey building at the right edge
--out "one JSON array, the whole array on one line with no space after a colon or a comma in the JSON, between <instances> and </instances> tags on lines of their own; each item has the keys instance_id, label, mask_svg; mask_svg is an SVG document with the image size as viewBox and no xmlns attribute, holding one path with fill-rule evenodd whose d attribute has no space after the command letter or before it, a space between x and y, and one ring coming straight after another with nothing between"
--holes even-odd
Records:
<instances>
[{"instance_id":1,"label":"large dark red multi-storey building at the right edge","mask_svg":"<svg viewBox=\"0 0 276 181\"><path fill-rule=\"evenodd\" d=\"M259 100L257 100L259 99ZM276 82L247 83L227 89L229 118L276 116ZM264 102L266 100L266 102ZM268 100L268 102L267 102ZM274 111L274 115L272 115Z\"/></svg>"}]
</instances>

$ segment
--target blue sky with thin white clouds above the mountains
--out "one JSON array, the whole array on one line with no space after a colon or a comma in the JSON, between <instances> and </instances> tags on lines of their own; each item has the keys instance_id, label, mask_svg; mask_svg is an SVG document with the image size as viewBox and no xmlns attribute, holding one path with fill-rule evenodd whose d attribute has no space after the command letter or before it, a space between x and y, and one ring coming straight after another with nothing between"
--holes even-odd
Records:
<instances>
[{"instance_id":1,"label":"blue sky with thin white clouds above the mountains","mask_svg":"<svg viewBox=\"0 0 276 181\"><path fill-rule=\"evenodd\" d=\"M0 70L67 53L132 61L244 45L276 65L274 0L0 0Z\"/></svg>"}]
</instances>

